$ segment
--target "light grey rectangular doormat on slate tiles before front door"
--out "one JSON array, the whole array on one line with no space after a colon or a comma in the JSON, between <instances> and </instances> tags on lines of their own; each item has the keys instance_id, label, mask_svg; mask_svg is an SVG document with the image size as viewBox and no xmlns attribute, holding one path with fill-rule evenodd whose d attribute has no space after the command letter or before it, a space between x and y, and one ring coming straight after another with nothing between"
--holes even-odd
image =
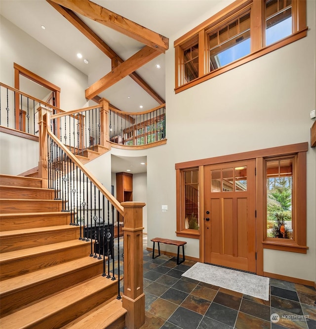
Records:
<instances>
[{"instance_id":1,"label":"light grey rectangular doormat on slate tiles before front door","mask_svg":"<svg viewBox=\"0 0 316 329\"><path fill-rule=\"evenodd\" d=\"M269 278L209 264L196 263L183 277L269 300Z\"/></svg>"}]
</instances>

